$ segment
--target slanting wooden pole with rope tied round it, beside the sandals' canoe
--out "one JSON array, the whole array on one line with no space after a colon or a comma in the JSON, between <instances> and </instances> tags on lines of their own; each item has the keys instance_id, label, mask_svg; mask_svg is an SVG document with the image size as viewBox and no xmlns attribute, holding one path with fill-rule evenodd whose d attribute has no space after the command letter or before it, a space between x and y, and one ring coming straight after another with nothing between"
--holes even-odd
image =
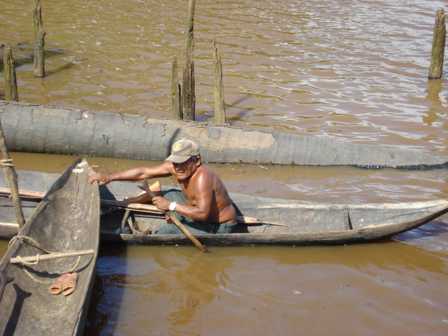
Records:
<instances>
[{"instance_id":1,"label":"slanting wooden pole with rope tied round it, beside the sandals' canoe","mask_svg":"<svg viewBox=\"0 0 448 336\"><path fill-rule=\"evenodd\" d=\"M18 185L17 185L17 175L14 166L11 163L11 158L9 157L8 148L6 148L5 138L3 134L3 129L1 128L0 122L0 151L1 151L1 164L4 166L4 172L6 180L8 181L9 189L11 189L11 198L14 205L14 211L16 212L18 230L20 231L25 224L25 217L23 217L20 197L18 195Z\"/></svg>"}]
</instances>

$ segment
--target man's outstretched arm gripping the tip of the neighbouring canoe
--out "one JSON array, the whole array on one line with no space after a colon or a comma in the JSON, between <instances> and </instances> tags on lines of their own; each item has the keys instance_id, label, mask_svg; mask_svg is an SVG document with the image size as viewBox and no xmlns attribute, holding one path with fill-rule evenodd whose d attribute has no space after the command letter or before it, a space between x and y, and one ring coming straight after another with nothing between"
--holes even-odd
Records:
<instances>
[{"instance_id":1,"label":"man's outstretched arm gripping the tip of the neighbouring canoe","mask_svg":"<svg viewBox=\"0 0 448 336\"><path fill-rule=\"evenodd\" d=\"M138 181L145 178L165 178L174 173L173 163L164 161L157 166L144 166L120 171L119 173L92 173L89 175L89 183L98 181L98 185L107 185L112 181L127 180Z\"/></svg>"}]
</instances>

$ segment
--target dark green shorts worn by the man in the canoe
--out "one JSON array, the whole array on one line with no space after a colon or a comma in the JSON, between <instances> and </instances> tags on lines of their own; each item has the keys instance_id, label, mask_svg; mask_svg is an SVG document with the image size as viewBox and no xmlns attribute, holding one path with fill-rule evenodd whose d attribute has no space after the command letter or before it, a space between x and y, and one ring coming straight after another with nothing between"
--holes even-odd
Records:
<instances>
[{"instance_id":1,"label":"dark green shorts worn by the man in the canoe","mask_svg":"<svg viewBox=\"0 0 448 336\"><path fill-rule=\"evenodd\" d=\"M186 198L181 192L181 190L170 189L164 192L164 197L180 204L186 203ZM192 234L219 234L219 233L232 233L235 232L238 223L206 223L206 222L196 222L190 218L183 217L177 212L173 212L178 220L188 229ZM169 224L162 227L154 234L183 234L181 229L179 229L176 224Z\"/></svg>"}]
</instances>

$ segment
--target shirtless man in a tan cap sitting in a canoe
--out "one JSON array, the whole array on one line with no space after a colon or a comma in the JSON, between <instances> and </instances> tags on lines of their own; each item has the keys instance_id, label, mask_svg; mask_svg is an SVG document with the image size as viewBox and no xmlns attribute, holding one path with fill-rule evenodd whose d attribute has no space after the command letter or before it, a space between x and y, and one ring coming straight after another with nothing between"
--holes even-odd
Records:
<instances>
[{"instance_id":1,"label":"shirtless man in a tan cap sitting in a canoe","mask_svg":"<svg viewBox=\"0 0 448 336\"><path fill-rule=\"evenodd\" d=\"M176 141L171 155L158 166L139 167L119 173L90 174L89 182L97 180L99 185L107 185L114 180L144 180L173 175L181 185L180 190L167 190L163 196L152 198L159 210L171 210L181 220L188 231L199 233L230 233L237 225L237 216L232 200L218 175L201 162L201 154L196 143L190 140ZM129 197L128 202L148 202L149 195ZM166 225L155 234L181 234L174 224Z\"/></svg>"}]
</instances>

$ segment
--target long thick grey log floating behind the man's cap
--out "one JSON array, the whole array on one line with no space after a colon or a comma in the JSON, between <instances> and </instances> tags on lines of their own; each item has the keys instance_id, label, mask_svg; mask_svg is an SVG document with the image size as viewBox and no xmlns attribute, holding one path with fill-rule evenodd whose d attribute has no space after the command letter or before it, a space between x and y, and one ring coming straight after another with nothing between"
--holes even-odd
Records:
<instances>
[{"instance_id":1,"label":"long thick grey log floating behind the man's cap","mask_svg":"<svg viewBox=\"0 0 448 336\"><path fill-rule=\"evenodd\" d=\"M334 138L0 100L10 151L164 160L181 138L207 162L448 168L448 156Z\"/></svg>"}]
</instances>

